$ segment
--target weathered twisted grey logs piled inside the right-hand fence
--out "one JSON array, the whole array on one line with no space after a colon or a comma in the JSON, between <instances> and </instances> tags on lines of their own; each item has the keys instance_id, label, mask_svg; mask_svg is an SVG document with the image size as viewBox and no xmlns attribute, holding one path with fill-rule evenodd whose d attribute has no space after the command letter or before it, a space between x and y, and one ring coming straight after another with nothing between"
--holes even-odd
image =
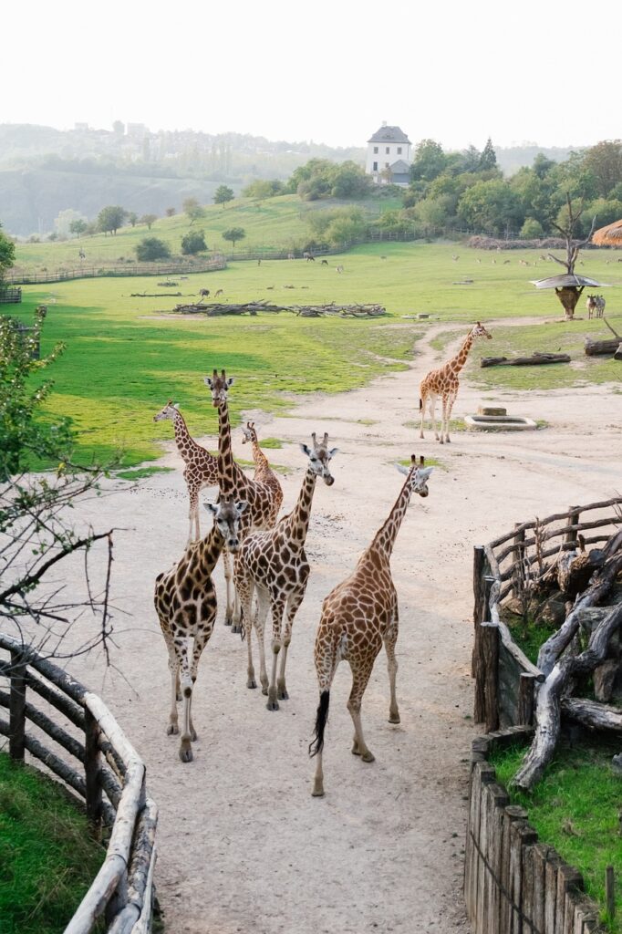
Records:
<instances>
[{"instance_id":1,"label":"weathered twisted grey logs piled inside the right-hand fence","mask_svg":"<svg viewBox=\"0 0 622 934\"><path fill-rule=\"evenodd\" d=\"M533 582L539 593L545 587L558 587L567 599L568 612L538 655L544 682L536 699L533 743L513 781L519 788L535 785L553 757L562 713L588 728L615 730L622 737L619 708L598 702L611 701L622 679L621 574L622 531L617 531L603 547L589 552L579 536L578 546L560 551L558 559ZM607 600L612 605L599 605ZM576 687L589 677L597 701L573 698Z\"/></svg>"}]
</instances>

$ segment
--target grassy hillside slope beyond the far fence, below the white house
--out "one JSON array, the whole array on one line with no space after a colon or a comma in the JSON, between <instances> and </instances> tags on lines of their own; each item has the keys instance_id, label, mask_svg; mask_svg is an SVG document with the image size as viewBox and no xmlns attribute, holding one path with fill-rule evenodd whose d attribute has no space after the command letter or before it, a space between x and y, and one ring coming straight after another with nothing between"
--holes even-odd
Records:
<instances>
[{"instance_id":1,"label":"grassy hillside slope beyond the far fence, below the white house","mask_svg":"<svg viewBox=\"0 0 622 934\"><path fill-rule=\"evenodd\" d=\"M125 206L124 202L120 203ZM204 230L208 248L218 252L231 252L231 243L221 237L221 233L230 227L242 227L247 234L239 246L236 245L236 250L296 247L311 235L304 222L306 213L339 204L345 203L331 200L305 204L295 194L281 195L261 203L238 198L224 207L206 205L205 218L196 220L192 225L185 214L178 214L173 218L156 220L150 231L145 224L140 224L134 228L122 227L116 235L97 233L65 243L18 244L16 269L35 272L44 268L75 268L79 265L80 248L86 253L84 264L88 266L135 261L135 246L145 236L159 237L170 246L174 254L179 254L181 238L189 230ZM369 198L357 204L368 211L370 217L377 216L380 210L397 206L395 201L377 198Z\"/></svg>"}]
</instances>

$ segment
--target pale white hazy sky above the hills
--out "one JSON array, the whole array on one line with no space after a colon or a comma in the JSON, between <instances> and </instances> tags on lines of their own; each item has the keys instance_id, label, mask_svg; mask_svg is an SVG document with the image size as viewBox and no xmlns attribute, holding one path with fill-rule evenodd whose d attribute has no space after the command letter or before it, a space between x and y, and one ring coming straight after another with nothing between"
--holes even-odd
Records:
<instances>
[{"instance_id":1,"label":"pale white hazy sky above the hills","mask_svg":"<svg viewBox=\"0 0 622 934\"><path fill-rule=\"evenodd\" d=\"M387 120L448 149L481 149L488 135L500 146L587 146L622 136L622 3L574 9L10 0L0 122L123 120L362 146Z\"/></svg>"}]
</instances>

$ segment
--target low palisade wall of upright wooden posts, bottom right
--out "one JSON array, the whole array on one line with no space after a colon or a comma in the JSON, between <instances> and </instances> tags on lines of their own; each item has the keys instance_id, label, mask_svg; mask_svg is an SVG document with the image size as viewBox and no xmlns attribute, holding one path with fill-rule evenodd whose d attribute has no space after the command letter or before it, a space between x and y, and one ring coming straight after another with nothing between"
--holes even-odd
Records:
<instances>
[{"instance_id":1,"label":"low palisade wall of upright wooden posts, bottom right","mask_svg":"<svg viewBox=\"0 0 622 934\"><path fill-rule=\"evenodd\" d=\"M474 740L464 861L464 899L474 934L594 934L598 906L583 878L538 841L524 808L509 804L489 753L530 739L513 727Z\"/></svg>"}]
</instances>

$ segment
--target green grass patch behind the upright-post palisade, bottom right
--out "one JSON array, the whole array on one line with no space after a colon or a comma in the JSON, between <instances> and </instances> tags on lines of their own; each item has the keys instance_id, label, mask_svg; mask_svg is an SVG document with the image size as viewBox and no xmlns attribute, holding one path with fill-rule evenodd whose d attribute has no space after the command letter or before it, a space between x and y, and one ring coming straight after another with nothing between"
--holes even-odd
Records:
<instances>
[{"instance_id":1,"label":"green grass patch behind the upright-post palisade, bottom right","mask_svg":"<svg viewBox=\"0 0 622 934\"><path fill-rule=\"evenodd\" d=\"M544 777L530 795L512 792L512 802L527 808L529 821L544 843L583 873L586 891L601 905L606 930L622 931L622 888L617 885L615 921L604 916L605 868L613 865L622 875L618 812L620 779L611 770L615 743L593 747L560 745ZM525 747L496 752L490 757L497 779L507 787L518 770Z\"/></svg>"}]
</instances>

